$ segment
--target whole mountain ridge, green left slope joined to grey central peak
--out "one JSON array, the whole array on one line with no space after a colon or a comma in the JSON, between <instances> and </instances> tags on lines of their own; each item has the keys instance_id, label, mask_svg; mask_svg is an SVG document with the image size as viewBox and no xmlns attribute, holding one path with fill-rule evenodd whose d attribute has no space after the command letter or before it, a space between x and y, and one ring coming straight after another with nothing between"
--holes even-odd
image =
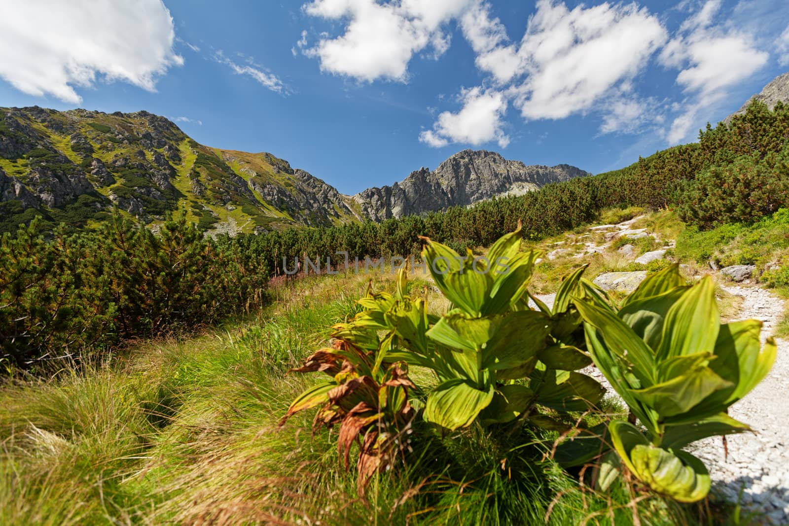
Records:
<instances>
[{"instance_id":1,"label":"whole mountain ridge, green left slope joined to grey central peak","mask_svg":"<svg viewBox=\"0 0 789 526\"><path fill-rule=\"evenodd\" d=\"M34 215L95 224L114 207L145 222L183 210L201 229L229 233L331 226L468 206L585 175L464 150L434 171L346 196L270 153L198 144L147 111L0 108L0 232Z\"/></svg>"}]
</instances>

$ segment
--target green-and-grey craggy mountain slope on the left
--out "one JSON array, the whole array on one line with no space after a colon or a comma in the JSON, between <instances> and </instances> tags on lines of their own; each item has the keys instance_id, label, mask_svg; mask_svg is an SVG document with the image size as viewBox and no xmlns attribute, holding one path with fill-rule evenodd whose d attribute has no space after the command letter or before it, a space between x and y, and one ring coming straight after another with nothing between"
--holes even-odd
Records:
<instances>
[{"instance_id":1,"label":"green-and-grey craggy mountain slope on the left","mask_svg":"<svg viewBox=\"0 0 789 526\"><path fill-rule=\"evenodd\" d=\"M0 218L35 209L55 222L101 220L114 206L146 221L186 207L230 232L357 221L353 201L267 153L206 147L140 111L0 109Z\"/></svg>"}]
</instances>

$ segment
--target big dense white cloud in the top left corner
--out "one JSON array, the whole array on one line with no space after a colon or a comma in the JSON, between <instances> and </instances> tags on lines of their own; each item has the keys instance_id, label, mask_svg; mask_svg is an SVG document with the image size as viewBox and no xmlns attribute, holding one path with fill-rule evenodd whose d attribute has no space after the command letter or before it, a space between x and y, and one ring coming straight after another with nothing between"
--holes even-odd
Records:
<instances>
[{"instance_id":1,"label":"big dense white cloud in the top left corner","mask_svg":"<svg viewBox=\"0 0 789 526\"><path fill-rule=\"evenodd\" d=\"M82 100L97 76L148 91L183 58L160 0L0 2L0 77L28 95Z\"/></svg>"}]
</instances>

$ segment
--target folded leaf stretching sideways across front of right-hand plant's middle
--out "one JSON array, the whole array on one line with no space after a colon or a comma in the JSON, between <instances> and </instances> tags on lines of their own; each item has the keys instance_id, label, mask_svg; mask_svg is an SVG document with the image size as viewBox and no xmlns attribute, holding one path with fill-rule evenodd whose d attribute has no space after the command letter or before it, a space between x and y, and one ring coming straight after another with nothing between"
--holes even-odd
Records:
<instances>
[{"instance_id":1,"label":"folded leaf stretching sideways across front of right-hand plant's middle","mask_svg":"<svg viewBox=\"0 0 789 526\"><path fill-rule=\"evenodd\" d=\"M683 375L631 392L665 417L687 412L716 390L731 385L731 382L720 378L709 367L697 365Z\"/></svg>"}]
</instances>

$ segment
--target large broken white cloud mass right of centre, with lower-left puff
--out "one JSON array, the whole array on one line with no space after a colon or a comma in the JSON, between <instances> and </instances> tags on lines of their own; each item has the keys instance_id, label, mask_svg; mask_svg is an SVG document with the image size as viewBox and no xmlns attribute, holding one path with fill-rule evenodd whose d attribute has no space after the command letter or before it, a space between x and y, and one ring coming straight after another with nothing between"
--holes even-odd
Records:
<instances>
[{"instance_id":1,"label":"large broken white cloud mass right of centre, with lower-left puff","mask_svg":"<svg viewBox=\"0 0 789 526\"><path fill-rule=\"evenodd\" d=\"M563 2L538 0L520 43L477 0L460 18L477 68L491 76L495 90L464 91L457 114L443 112L420 140L431 146L451 142L506 146L503 115L511 101L522 117L561 119L600 110L600 132L637 132L658 116L630 91L633 79L667 40L657 17L636 4L568 9ZM470 125L469 125L470 123Z\"/></svg>"}]
</instances>

